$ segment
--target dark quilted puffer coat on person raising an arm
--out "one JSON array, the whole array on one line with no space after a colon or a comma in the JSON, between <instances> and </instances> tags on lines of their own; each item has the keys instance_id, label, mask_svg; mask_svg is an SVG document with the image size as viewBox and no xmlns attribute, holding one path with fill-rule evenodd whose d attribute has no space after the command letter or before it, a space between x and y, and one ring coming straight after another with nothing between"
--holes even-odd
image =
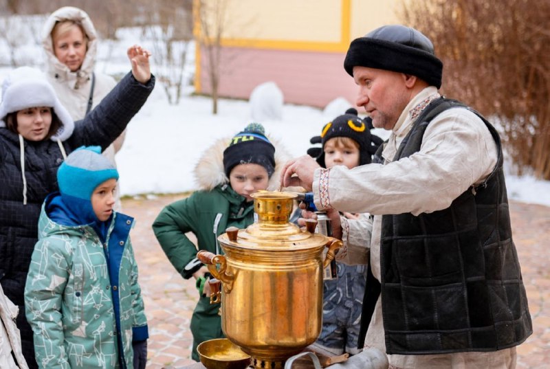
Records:
<instances>
[{"instance_id":1,"label":"dark quilted puffer coat on person raising an arm","mask_svg":"<svg viewBox=\"0 0 550 369\"><path fill-rule=\"evenodd\" d=\"M67 155L79 146L98 145L107 148L120 135L131 118L140 110L155 85L155 78L142 85L126 75L102 102L63 142ZM65 127L67 128L67 127ZM58 190L57 168L63 154L57 142L24 141L19 146L19 135L0 127L0 283L5 295L19 305L17 326L21 330L23 355L34 359L32 331L23 306L23 291L34 244L38 241L38 221L41 205L47 194ZM23 204L23 171L25 163L27 203ZM34 360L30 366L34 367Z\"/></svg>"}]
</instances>

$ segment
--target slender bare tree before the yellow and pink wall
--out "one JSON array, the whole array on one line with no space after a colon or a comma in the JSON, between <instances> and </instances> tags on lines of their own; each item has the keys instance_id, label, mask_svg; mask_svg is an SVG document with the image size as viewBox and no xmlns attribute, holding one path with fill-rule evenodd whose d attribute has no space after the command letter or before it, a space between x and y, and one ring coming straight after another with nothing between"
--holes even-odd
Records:
<instances>
[{"instance_id":1,"label":"slender bare tree before the yellow and pink wall","mask_svg":"<svg viewBox=\"0 0 550 369\"><path fill-rule=\"evenodd\" d=\"M227 26L227 9L230 0L197 0L195 16L200 27L197 41L206 51L206 70L212 93L212 113L218 113L218 90L221 78L221 38ZM200 76L195 76L200 78Z\"/></svg>"}]
</instances>

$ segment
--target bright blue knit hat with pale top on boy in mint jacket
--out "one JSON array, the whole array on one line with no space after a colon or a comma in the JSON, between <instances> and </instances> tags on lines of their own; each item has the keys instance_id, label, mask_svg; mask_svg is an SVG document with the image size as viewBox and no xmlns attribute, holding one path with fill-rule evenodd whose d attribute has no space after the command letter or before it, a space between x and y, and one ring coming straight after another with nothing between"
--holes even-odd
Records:
<instances>
[{"instance_id":1,"label":"bright blue knit hat with pale top on boy in mint jacket","mask_svg":"<svg viewBox=\"0 0 550 369\"><path fill-rule=\"evenodd\" d=\"M96 187L111 178L118 180L118 171L101 155L100 146L77 148L57 170L63 201L68 197L89 201Z\"/></svg>"}]
</instances>

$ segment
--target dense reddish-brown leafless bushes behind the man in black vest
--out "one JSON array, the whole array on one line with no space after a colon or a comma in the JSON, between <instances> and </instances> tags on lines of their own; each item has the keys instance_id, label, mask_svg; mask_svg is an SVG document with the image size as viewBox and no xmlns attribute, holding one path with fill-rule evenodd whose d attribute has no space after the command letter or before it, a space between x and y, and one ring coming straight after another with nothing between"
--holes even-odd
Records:
<instances>
[{"instance_id":1,"label":"dense reddish-brown leafless bushes behind the man in black vest","mask_svg":"<svg viewBox=\"0 0 550 369\"><path fill-rule=\"evenodd\" d=\"M443 91L499 120L516 172L550 179L550 1L418 0L402 15L434 41Z\"/></svg>"}]
</instances>

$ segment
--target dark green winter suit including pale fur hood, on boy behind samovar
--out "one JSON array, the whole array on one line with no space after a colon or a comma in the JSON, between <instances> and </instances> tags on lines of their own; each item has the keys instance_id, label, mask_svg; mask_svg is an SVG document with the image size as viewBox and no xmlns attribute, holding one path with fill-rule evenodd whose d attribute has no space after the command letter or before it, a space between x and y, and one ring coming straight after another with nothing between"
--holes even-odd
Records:
<instances>
[{"instance_id":1,"label":"dark green winter suit including pale fur hood, on boy behind samovar","mask_svg":"<svg viewBox=\"0 0 550 369\"><path fill-rule=\"evenodd\" d=\"M195 179L201 190L167 205L153 223L155 236L168 260L186 279L191 278L192 273L202 266L196 259L197 247L199 250L223 254L217 237L228 227L244 229L254 223L254 203L246 203L244 197L232 190L223 170L223 150L229 141L230 138L217 140L199 159L195 166ZM274 190L288 155L278 142L271 138L270 141L276 147L276 167L267 189ZM187 232L195 234L197 247L186 236ZM192 359L199 361L198 344L224 337L219 308L219 304L210 304L209 296L199 296L190 324L193 335Z\"/></svg>"}]
</instances>

